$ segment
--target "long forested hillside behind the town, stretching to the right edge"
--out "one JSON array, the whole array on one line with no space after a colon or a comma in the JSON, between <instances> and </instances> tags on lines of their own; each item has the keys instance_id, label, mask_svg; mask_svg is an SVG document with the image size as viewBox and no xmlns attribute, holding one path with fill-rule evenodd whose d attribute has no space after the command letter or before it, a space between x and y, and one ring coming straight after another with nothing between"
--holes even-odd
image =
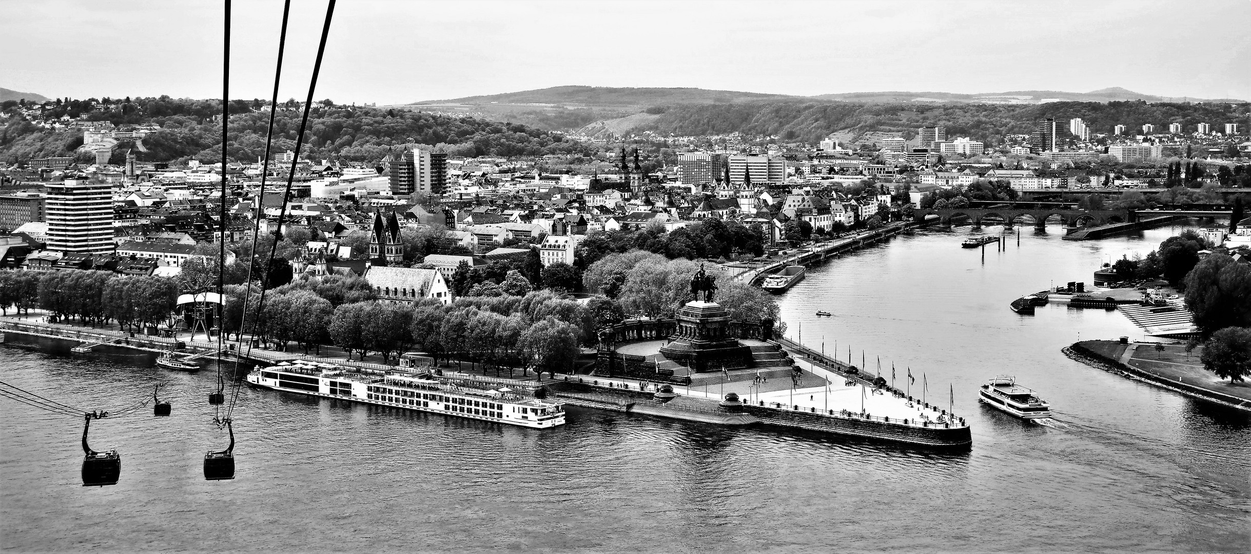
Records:
<instances>
[{"instance_id":1,"label":"long forested hillside behind the town, stretching to the right edge","mask_svg":"<svg viewBox=\"0 0 1251 554\"><path fill-rule=\"evenodd\" d=\"M836 131L858 136L868 131L902 131L911 138L927 125L947 128L947 136L970 136L996 143L1005 134L1028 134L1038 120L1055 118L1068 130L1068 120L1081 118L1096 133L1113 125L1136 129L1142 124L1181 123L1188 130L1198 123L1247 124L1246 104L1147 104L1051 103L1003 104L848 104L812 101L757 101L721 105L676 105L654 121L634 128L674 135L744 133L776 135L783 140L814 143Z\"/></svg>"}]
</instances>

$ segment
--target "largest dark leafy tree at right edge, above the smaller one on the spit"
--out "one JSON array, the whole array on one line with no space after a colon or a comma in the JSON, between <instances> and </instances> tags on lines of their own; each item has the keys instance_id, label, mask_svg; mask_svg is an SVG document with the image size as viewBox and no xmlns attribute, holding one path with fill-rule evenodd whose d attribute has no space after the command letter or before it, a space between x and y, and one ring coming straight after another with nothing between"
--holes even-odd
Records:
<instances>
[{"instance_id":1,"label":"largest dark leafy tree at right edge, above the smaller one on the spit","mask_svg":"<svg viewBox=\"0 0 1251 554\"><path fill-rule=\"evenodd\" d=\"M1251 268L1210 254L1186 275L1186 308L1203 336L1227 326L1251 326Z\"/></svg>"}]
</instances>

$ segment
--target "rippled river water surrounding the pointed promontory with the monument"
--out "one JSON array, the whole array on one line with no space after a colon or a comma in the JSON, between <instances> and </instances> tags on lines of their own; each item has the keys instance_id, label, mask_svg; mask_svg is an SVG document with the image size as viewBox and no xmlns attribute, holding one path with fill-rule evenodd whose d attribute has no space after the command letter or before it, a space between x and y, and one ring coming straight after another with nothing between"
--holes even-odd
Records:
<instances>
[{"instance_id":1,"label":"rippled river water surrounding the pointed promontory with the monument","mask_svg":"<svg viewBox=\"0 0 1251 554\"><path fill-rule=\"evenodd\" d=\"M987 228L998 233L1000 228ZM174 415L93 425L121 481L79 485L81 421L0 403L0 548L413 551L1246 551L1251 419L1065 358L1083 339L1141 338L1115 311L1008 303L1083 280L1176 229L965 250L922 231L813 268L782 299L788 334L972 424L941 453L771 429L570 408L552 430L241 389L235 480L205 481L228 438L205 394L215 374L159 370L133 350L70 354L10 335L3 380L75 406L161 384ZM833 318L817 319L824 309ZM16 344L25 343L25 344ZM1017 375L1052 403L1046 425L977 403ZM176 396L176 398L175 398Z\"/></svg>"}]
</instances>

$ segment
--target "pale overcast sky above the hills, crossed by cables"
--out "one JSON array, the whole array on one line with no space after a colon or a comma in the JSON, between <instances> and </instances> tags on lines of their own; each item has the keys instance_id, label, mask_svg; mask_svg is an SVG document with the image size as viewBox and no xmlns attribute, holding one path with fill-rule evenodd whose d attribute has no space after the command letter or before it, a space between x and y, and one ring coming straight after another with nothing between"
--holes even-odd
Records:
<instances>
[{"instance_id":1,"label":"pale overcast sky above the hills, crossed by cables","mask_svg":"<svg viewBox=\"0 0 1251 554\"><path fill-rule=\"evenodd\" d=\"M304 99L328 0L291 0ZM21 6L23 9L18 9ZM0 86L221 98L224 1L0 0ZM35 9L31 9L35 8ZM266 99L281 0L236 0L230 98ZM1251 100L1251 0L339 0L314 98L404 104L559 85Z\"/></svg>"}]
</instances>

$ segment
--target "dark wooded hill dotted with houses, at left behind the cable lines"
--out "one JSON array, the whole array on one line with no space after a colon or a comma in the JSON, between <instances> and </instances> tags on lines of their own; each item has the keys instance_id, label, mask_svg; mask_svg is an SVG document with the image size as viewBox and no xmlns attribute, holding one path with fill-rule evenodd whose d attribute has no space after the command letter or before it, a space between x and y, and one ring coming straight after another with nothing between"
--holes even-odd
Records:
<instances>
[{"instance_id":1,"label":"dark wooded hill dotted with houses, at left behind the cable lines","mask_svg":"<svg viewBox=\"0 0 1251 554\"><path fill-rule=\"evenodd\" d=\"M130 100L130 99L126 99ZM231 160L256 160L265 151L269 113L253 104L231 101ZM259 103L256 103L259 105ZM89 120L113 120L120 129L135 124L155 124L161 130L143 140L136 149L140 161L180 161L198 159L216 163L221 158L221 126L213 115L220 113L216 100L134 99L109 111L86 114ZM274 153L294 150L300 113L280 109L275 123ZM524 125L453 118L408 110L379 110L355 106L317 106L309 118L303 154L309 159L377 161L389 148L408 141L442 146L450 155L527 156L583 151L585 146L565 140L560 134ZM20 118L10 118L0 128L0 163L13 164L31 158L75 155L83 145L81 131L51 133ZM119 144L124 151L131 144ZM118 155L115 150L115 155ZM78 153L84 161L93 156Z\"/></svg>"}]
</instances>

